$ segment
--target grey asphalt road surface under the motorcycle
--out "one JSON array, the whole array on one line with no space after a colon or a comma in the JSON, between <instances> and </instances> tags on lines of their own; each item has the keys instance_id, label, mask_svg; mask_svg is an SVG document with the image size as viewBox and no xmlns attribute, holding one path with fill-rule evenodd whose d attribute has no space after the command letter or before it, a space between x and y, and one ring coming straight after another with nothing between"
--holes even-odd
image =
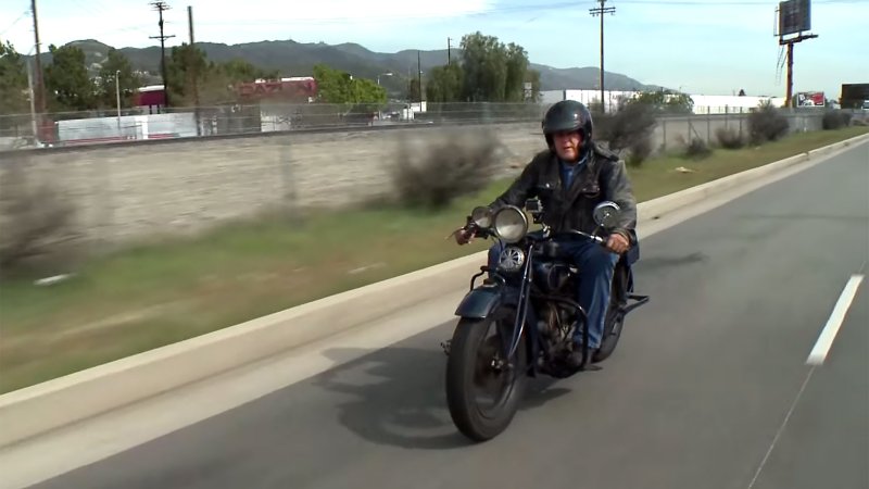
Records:
<instances>
[{"instance_id":1,"label":"grey asphalt road surface under the motorcycle","mask_svg":"<svg viewBox=\"0 0 869 489\"><path fill-rule=\"evenodd\" d=\"M869 145L642 247L614 356L489 443L445 410L450 323L36 487L869 488L869 284L806 364L867 272Z\"/></svg>"}]
</instances>

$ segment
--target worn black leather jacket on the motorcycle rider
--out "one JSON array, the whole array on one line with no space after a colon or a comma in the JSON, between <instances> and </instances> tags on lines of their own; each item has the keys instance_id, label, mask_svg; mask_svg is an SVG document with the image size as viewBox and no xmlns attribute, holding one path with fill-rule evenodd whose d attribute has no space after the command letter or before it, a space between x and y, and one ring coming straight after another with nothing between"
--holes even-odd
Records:
<instances>
[{"instance_id":1,"label":"worn black leather jacket on the motorcycle rider","mask_svg":"<svg viewBox=\"0 0 869 489\"><path fill-rule=\"evenodd\" d=\"M637 199L625 162L617 154L593 145L582 170L574 176L570 188L563 188L561 163L549 149L538 153L525 167L521 175L494 202L492 208L504 204L522 208L526 199L538 197L543 204L543 222L558 233L578 229L592 233L597 227L592 215L594 206L612 200L621 208L614 233L637 241Z\"/></svg>"}]
</instances>

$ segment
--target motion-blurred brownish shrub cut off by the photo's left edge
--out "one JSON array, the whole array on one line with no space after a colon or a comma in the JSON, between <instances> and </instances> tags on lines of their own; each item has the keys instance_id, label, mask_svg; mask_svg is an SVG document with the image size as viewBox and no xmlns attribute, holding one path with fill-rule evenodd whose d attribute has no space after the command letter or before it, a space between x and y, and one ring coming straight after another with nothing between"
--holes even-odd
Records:
<instances>
[{"instance_id":1,"label":"motion-blurred brownish shrub cut off by the photo's left edge","mask_svg":"<svg viewBox=\"0 0 869 489\"><path fill-rule=\"evenodd\" d=\"M27 163L17 155L0 166L0 272L59 258L74 237L73 206L56 188L34 184Z\"/></svg>"}]
</instances>

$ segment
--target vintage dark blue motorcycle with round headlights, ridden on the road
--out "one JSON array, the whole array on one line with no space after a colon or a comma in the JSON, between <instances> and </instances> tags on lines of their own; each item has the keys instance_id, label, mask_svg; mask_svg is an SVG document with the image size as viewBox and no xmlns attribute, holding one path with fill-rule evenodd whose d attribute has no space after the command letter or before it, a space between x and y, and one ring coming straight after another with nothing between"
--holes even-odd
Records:
<instances>
[{"instance_id":1,"label":"vintage dark blue motorcycle with round headlights, ridden on the road","mask_svg":"<svg viewBox=\"0 0 869 489\"><path fill-rule=\"evenodd\" d=\"M583 369L599 369L593 363L613 353L625 316L648 301L647 296L633 293L631 265L639 259L634 244L614 271L601 348L593 355L585 348L578 366L568 362L576 328L581 328L583 344L588 344L587 314L576 302L574 286L582 271L559 252L556 235L542 224L540 200L527 200L525 209L541 229L529 233L526 213L506 205L496 212L476 208L467 224L456 230L493 237L502 243L498 266L481 266L470 279L470 291L455 312L459 321L453 337L441 343L448 355L450 415L458 430L474 441L489 440L507 428L529 377L566 378ZM594 208L594 233L569 233L603 246L606 239L600 233L617 222L619 212L615 202L601 202ZM477 278L487 273L488 278L475 287ZM495 334L487 337L491 329ZM491 405L477 399L477 388L494 391Z\"/></svg>"}]
</instances>

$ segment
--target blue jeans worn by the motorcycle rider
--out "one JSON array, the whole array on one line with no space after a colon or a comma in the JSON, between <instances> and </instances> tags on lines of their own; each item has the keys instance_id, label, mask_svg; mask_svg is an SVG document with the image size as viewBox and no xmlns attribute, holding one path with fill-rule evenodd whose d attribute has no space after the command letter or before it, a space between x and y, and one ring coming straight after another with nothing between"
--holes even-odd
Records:
<instances>
[{"instance_id":1,"label":"blue jeans worn by the motorcycle rider","mask_svg":"<svg viewBox=\"0 0 869 489\"><path fill-rule=\"evenodd\" d=\"M577 280L577 301L589 316L589 346L592 349L601 347L604 334L604 321L609 309L609 291L613 283L613 269L619 255L595 242L581 238L559 241L563 252L570 256L571 262L579 268ZM495 241L489 249L489 266L498 265L501 255L501 242ZM574 341L582 343L582 329L577 329Z\"/></svg>"}]
</instances>

